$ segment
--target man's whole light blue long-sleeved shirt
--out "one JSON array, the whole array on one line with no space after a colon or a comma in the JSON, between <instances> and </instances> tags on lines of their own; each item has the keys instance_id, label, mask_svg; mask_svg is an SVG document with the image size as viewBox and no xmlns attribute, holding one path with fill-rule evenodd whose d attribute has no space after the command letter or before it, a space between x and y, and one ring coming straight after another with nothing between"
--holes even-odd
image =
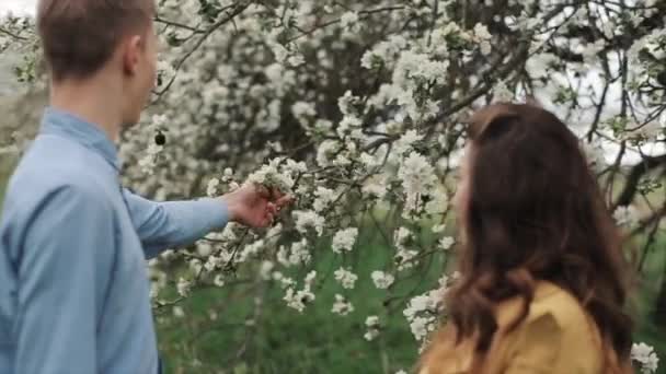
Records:
<instances>
[{"instance_id":1,"label":"man's whole light blue long-sleeved shirt","mask_svg":"<svg viewBox=\"0 0 666 374\"><path fill-rule=\"evenodd\" d=\"M222 229L228 210L146 200L118 165L99 127L46 110L0 221L0 373L157 373L146 258Z\"/></svg>"}]
</instances>

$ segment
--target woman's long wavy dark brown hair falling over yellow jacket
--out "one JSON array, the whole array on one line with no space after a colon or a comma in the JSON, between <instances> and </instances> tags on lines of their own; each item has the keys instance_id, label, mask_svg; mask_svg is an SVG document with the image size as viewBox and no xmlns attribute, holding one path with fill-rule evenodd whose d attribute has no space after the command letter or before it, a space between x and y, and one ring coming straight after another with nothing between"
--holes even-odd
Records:
<instances>
[{"instance_id":1,"label":"woman's long wavy dark brown hair falling over yellow jacket","mask_svg":"<svg viewBox=\"0 0 666 374\"><path fill-rule=\"evenodd\" d=\"M485 107L468 131L461 277L447 294L446 330L453 331L455 343L474 341L472 367L481 372L498 328L494 307L523 300L510 331L527 317L536 282L550 281L594 318L607 352L604 372L625 372L630 267L578 139L552 113L532 105Z\"/></svg>"}]
</instances>

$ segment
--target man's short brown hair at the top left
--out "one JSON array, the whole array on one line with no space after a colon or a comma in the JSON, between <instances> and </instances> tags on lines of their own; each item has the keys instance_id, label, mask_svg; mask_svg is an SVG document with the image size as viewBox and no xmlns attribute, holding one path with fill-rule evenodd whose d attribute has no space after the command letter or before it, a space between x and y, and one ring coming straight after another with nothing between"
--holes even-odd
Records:
<instances>
[{"instance_id":1,"label":"man's short brown hair at the top left","mask_svg":"<svg viewBox=\"0 0 666 374\"><path fill-rule=\"evenodd\" d=\"M54 81L87 78L120 39L151 24L153 0L39 0L37 30Z\"/></svg>"}]
</instances>

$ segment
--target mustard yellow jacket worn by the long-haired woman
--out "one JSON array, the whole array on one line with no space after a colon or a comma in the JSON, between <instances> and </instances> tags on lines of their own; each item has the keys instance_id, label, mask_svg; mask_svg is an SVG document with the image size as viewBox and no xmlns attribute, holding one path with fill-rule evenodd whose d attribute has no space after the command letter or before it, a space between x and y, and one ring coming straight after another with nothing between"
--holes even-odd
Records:
<instances>
[{"instance_id":1,"label":"mustard yellow jacket worn by the long-haired woman","mask_svg":"<svg viewBox=\"0 0 666 374\"><path fill-rule=\"evenodd\" d=\"M520 312L520 305L519 300L498 305L498 331ZM472 342L446 341L433 342L420 374L469 373ZM483 374L604 374L602 362L599 331L592 317L569 292L539 282L527 318L508 334L495 334Z\"/></svg>"}]
</instances>

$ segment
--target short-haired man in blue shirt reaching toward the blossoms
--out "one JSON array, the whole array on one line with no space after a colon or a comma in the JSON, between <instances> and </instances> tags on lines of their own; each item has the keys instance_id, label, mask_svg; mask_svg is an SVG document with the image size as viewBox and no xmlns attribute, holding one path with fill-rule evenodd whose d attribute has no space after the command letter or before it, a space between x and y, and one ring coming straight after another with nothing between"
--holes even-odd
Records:
<instances>
[{"instance_id":1,"label":"short-haired man in blue shirt reaching toward the blossoms","mask_svg":"<svg viewBox=\"0 0 666 374\"><path fill-rule=\"evenodd\" d=\"M154 7L38 3L50 105L0 221L0 373L159 373L146 258L229 221L266 226L287 202L251 185L174 202L120 187L115 142L156 81Z\"/></svg>"}]
</instances>

